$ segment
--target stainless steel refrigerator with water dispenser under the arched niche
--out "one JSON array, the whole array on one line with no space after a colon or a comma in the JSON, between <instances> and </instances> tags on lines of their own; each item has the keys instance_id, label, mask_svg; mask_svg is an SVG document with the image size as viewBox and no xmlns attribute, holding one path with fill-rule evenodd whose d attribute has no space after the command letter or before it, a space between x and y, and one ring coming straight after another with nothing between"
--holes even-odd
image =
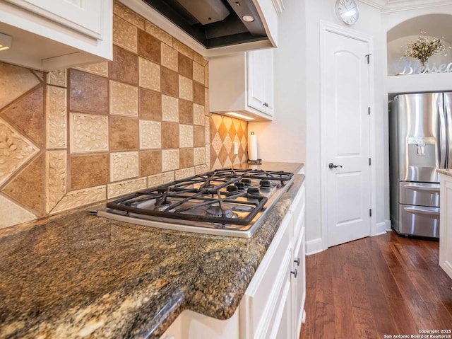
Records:
<instances>
[{"instance_id":1,"label":"stainless steel refrigerator with water dispenser under the arched niche","mask_svg":"<svg viewBox=\"0 0 452 339\"><path fill-rule=\"evenodd\" d=\"M439 238L439 174L452 168L452 93L396 96L389 105L391 223Z\"/></svg>"}]
</instances>

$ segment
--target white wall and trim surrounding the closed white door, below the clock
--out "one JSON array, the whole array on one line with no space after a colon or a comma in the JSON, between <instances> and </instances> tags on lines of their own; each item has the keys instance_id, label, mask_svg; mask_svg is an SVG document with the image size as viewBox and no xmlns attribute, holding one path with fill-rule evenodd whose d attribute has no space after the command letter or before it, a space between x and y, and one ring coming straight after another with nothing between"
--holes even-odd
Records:
<instances>
[{"instance_id":1,"label":"white wall and trim surrounding the closed white door, below the clock","mask_svg":"<svg viewBox=\"0 0 452 339\"><path fill-rule=\"evenodd\" d=\"M340 24L335 14L334 0L307 0L307 241L318 241L322 237L321 231L321 164L320 158L320 21ZM352 30L367 33L374 37L374 52L371 56L374 62L374 112L376 142L372 145L376 158L376 213L377 224L384 223L385 212L385 178L384 178L384 139L383 139L383 115L386 114L387 98L383 95L383 64L386 64L386 34L383 35L381 25L381 13L378 9L367 4L358 3L359 21L352 26ZM386 93L385 93L386 94ZM309 251L309 243L308 243Z\"/></svg>"}]
</instances>

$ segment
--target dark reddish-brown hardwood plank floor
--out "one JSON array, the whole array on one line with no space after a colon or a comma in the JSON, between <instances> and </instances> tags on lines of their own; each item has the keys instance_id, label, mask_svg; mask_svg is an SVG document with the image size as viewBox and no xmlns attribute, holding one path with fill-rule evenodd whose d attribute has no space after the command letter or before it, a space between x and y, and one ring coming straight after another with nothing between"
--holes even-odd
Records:
<instances>
[{"instance_id":1,"label":"dark reddish-brown hardwood plank floor","mask_svg":"<svg viewBox=\"0 0 452 339\"><path fill-rule=\"evenodd\" d=\"M308 256L307 316L300 338L452 330L452 280L438 263L439 243L395 232Z\"/></svg>"}]
</instances>

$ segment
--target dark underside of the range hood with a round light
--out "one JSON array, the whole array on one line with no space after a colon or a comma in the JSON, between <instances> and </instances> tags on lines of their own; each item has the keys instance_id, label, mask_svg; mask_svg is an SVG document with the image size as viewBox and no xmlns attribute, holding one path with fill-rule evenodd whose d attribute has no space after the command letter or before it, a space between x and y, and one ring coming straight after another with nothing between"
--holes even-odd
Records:
<instances>
[{"instance_id":1,"label":"dark underside of the range hood with a round light","mask_svg":"<svg viewBox=\"0 0 452 339\"><path fill-rule=\"evenodd\" d=\"M252 0L143 0L206 49L268 40Z\"/></svg>"}]
</instances>

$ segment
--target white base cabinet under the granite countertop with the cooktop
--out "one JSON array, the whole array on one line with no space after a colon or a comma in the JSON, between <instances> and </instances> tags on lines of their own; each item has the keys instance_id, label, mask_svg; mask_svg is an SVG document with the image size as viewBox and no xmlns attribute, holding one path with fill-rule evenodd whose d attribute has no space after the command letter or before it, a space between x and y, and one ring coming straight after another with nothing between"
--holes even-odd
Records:
<instances>
[{"instance_id":1,"label":"white base cabinet under the granite countertop with the cooktop","mask_svg":"<svg viewBox=\"0 0 452 339\"><path fill-rule=\"evenodd\" d=\"M183 311L160 339L298 339L306 299L304 205L303 184L230 319Z\"/></svg>"}]
</instances>

